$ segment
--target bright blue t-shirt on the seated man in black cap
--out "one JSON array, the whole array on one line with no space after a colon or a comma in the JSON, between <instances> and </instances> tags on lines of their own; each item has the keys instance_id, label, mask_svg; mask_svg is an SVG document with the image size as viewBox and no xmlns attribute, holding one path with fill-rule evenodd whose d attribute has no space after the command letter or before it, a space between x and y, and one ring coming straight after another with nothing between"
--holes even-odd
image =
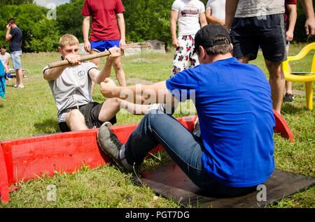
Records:
<instances>
[{"instance_id":1,"label":"bright blue t-shirt on the seated man in black cap","mask_svg":"<svg viewBox=\"0 0 315 222\"><path fill-rule=\"evenodd\" d=\"M260 68L232 57L188 68L166 85L180 101L195 103L205 148L202 164L211 177L234 187L269 178L275 120L271 89Z\"/></svg>"}]
</instances>

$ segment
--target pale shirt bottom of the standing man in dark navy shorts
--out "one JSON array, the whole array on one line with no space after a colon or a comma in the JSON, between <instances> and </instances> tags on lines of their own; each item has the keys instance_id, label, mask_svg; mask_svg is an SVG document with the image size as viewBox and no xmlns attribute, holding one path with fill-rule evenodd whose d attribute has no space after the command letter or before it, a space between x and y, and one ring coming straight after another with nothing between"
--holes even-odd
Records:
<instances>
[{"instance_id":1,"label":"pale shirt bottom of the standing man in dark navy shorts","mask_svg":"<svg viewBox=\"0 0 315 222\"><path fill-rule=\"evenodd\" d=\"M256 17L284 13L284 0L239 0L235 17Z\"/></svg>"}]
</instances>

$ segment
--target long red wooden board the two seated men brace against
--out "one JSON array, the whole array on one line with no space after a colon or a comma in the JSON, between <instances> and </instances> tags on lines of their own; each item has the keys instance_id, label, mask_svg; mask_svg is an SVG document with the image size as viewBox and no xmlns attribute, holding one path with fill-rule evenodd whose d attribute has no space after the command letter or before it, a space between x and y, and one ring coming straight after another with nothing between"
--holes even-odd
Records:
<instances>
[{"instance_id":1,"label":"long red wooden board the two seated men brace against","mask_svg":"<svg viewBox=\"0 0 315 222\"><path fill-rule=\"evenodd\" d=\"M193 131L193 117L178 120ZM290 128L281 116L276 115L276 130L286 138L291 138ZM138 124L111 126L120 142L127 142L130 134ZM288 132L289 130L289 132ZM38 179L43 174L52 176L57 172L74 172L83 165L96 168L111 159L97 145L98 128L86 131L54 133L32 138L5 140L0 143L0 192L1 200L8 201L8 187L17 182ZM293 142L293 137L291 139ZM153 152L162 149L159 145ZM12 188L11 188L12 190Z\"/></svg>"}]
</instances>

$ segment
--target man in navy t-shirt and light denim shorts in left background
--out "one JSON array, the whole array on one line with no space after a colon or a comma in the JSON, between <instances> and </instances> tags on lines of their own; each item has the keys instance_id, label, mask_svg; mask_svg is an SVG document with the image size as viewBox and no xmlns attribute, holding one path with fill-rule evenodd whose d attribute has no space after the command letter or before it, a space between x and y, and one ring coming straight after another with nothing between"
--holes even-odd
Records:
<instances>
[{"instance_id":1,"label":"man in navy t-shirt and light denim shorts in left background","mask_svg":"<svg viewBox=\"0 0 315 222\"><path fill-rule=\"evenodd\" d=\"M22 55L22 31L16 25L14 18L10 18L8 20L8 24L6 25L6 40L10 41L10 54L13 62L13 68L15 69L16 74L16 84L14 85L14 88L24 88L23 72L20 58Z\"/></svg>"}]
</instances>

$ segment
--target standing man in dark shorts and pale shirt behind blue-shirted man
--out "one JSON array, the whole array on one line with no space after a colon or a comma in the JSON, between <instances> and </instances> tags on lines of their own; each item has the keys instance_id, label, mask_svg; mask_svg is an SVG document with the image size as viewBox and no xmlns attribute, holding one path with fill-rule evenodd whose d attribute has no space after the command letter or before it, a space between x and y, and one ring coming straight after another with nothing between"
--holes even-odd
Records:
<instances>
[{"instance_id":1,"label":"standing man in dark shorts and pale shirt behind blue-shirted man","mask_svg":"<svg viewBox=\"0 0 315 222\"><path fill-rule=\"evenodd\" d=\"M286 84L281 63L287 58L284 1L230 0L226 1L225 15L234 57L248 63L256 59L261 47L269 71L272 106L280 114Z\"/></svg>"}]
</instances>

